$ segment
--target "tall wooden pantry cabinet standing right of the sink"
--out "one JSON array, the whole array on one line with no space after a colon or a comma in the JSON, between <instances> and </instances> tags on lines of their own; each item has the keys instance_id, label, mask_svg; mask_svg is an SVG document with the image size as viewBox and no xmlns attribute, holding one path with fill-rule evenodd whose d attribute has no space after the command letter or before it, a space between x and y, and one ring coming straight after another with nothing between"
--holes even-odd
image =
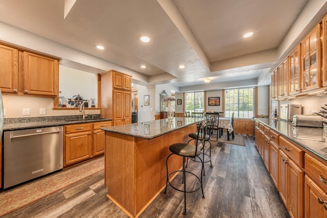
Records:
<instances>
[{"instance_id":1,"label":"tall wooden pantry cabinet standing right of the sink","mask_svg":"<svg viewBox=\"0 0 327 218\"><path fill-rule=\"evenodd\" d=\"M101 117L112 125L130 124L132 119L132 77L110 70L101 75Z\"/></svg>"}]
</instances>

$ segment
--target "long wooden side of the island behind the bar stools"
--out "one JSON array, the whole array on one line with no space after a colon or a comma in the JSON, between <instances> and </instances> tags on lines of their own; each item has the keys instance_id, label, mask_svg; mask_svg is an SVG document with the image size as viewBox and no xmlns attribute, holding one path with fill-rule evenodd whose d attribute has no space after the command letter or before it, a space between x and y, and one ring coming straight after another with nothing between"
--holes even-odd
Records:
<instances>
[{"instance_id":1,"label":"long wooden side of the island behind the bar stools","mask_svg":"<svg viewBox=\"0 0 327 218\"><path fill-rule=\"evenodd\" d=\"M136 139L136 185L135 205L139 215L166 186L166 159L171 154L169 146L173 143L189 141L188 134L196 132L196 124L183 127L151 140ZM173 155L168 162L169 172L182 167L182 157Z\"/></svg>"}]
</instances>

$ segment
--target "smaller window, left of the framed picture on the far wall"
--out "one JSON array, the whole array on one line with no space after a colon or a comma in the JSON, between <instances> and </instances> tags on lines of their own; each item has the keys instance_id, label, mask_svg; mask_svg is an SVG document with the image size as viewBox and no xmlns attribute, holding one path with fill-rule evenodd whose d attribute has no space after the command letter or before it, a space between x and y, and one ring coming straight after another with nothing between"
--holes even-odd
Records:
<instances>
[{"instance_id":1,"label":"smaller window, left of the framed picture on the far wall","mask_svg":"<svg viewBox=\"0 0 327 218\"><path fill-rule=\"evenodd\" d=\"M185 93L186 111L204 112L204 91Z\"/></svg>"}]
</instances>

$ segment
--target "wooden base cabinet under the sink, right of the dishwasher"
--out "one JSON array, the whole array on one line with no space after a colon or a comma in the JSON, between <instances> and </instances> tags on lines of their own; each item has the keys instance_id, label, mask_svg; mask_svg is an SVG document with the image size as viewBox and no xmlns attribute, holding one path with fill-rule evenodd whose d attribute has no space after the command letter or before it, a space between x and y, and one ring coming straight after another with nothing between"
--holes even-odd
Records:
<instances>
[{"instance_id":1,"label":"wooden base cabinet under the sink, right of the dishwasher","mask_svg":"<svg viewBox=\"0 0 327 218\"><path fill-rule=\"evenodd\" d=\"M64 167L103 154L105 132L101 128L111 125L111 121L65 125Z\"/></svg>"}]
</instances>

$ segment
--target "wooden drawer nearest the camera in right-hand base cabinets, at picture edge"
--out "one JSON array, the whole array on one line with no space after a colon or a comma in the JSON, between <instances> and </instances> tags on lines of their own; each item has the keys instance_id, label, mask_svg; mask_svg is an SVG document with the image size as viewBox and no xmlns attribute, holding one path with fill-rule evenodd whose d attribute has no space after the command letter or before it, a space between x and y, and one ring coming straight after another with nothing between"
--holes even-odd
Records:
<instances>
[{"instance_id":1,"label":"wooden drawer nearest the camera in right-hand base cabinets, at picture edge","mask_svg":"<svg viewBox=\"0 0 327 218\"><path fill-rule=\"evenodd\" d=\"M305 172L327 192L327 163L323 163L317 158L305 154Z\"/></svg>"}]
</instances>

